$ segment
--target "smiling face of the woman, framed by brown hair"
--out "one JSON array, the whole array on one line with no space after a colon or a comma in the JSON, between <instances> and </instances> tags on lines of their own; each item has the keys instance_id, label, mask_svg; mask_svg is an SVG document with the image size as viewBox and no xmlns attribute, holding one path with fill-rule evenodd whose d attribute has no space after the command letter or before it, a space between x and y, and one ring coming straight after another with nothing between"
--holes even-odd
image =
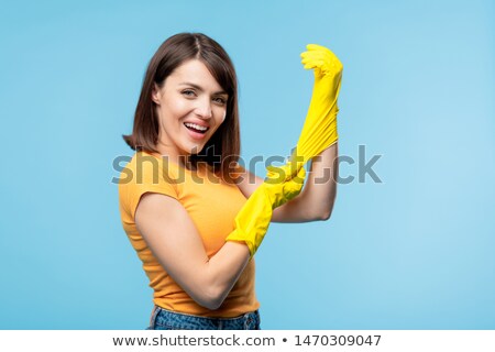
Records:
<instances>
[{"instance_id":1,"label":"smiling face of the woman, framed by brown hair","mask_svg":"<svg viewBox=\"0 0 495 352\"><path fill-rule=\"evenodd\" d=\"M153 101L160 121L157 148L169 157L199 153L226 119L228 94L198 59L178 66Z\"/></svg>"}]
</instances>

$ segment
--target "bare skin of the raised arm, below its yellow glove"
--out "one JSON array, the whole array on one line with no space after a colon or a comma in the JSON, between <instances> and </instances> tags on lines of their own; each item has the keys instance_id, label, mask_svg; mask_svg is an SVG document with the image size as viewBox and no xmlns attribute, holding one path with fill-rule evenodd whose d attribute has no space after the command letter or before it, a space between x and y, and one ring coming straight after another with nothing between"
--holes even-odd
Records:
<instances>
[{"instance_id":1,"label":"bare skin of the raised arm, below its yellow glove","mask_svg":"<svg viewBox=\"0 0 495 352\"><path fill-rule=\"evenodd\" d=\"M307 222L328 220L332 213L337 197L338 143L332 144L311 162L311 169L299 196L278 207L273 212L273 222ZM245 197L249 197L263 179L249 175L245 170L238 184Z\"/></svg>"}]
</instances>

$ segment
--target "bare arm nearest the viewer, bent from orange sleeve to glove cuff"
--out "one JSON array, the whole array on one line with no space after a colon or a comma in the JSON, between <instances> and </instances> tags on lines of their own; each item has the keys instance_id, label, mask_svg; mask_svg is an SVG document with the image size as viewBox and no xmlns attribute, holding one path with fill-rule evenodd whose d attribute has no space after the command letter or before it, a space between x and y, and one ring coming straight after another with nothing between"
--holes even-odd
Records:
<instances>
[{"instance_id":1,"label":"bare arm nearest the viewer, bent from orange sleeve to glove cuff","mask_svg":"<svg viewBox=\"0 0 495 352\"><path fill-rule=\"evenodd\" d=\"M193 220L172 197L143 195L135 223L170 277L208 309L221 306L250 260L248 245L231 241L208 258Z\"/></svg>"}]
</instances>

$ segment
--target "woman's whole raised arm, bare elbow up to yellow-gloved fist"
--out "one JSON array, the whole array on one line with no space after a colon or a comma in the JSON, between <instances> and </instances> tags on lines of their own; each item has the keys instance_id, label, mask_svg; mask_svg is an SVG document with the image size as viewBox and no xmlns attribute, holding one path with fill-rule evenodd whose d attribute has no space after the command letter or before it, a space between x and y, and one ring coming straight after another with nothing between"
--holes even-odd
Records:
<instances>
[{"instance_id":1,"label":"woman's whole raised arm, bare elbow up to yellow-gloved fist","mask_svg":"<svg viewBox=\"0 0 495 352\"><path fill-rule=\"evenodd\" d=\"M297 147L290 156L292 162L283 167L287 173L293 173L309 160L312 164L302 193L274 211L272 220L278 222L327 220L332 212L337 195L337 100L343 66L324 46L309 44L307 50L301 54L301 63L315 74L311 102ZM248 197L262 183L260 178L250 183L253 178L253 175L244 172L238 184Z\"/></svg>"}]
</instances>

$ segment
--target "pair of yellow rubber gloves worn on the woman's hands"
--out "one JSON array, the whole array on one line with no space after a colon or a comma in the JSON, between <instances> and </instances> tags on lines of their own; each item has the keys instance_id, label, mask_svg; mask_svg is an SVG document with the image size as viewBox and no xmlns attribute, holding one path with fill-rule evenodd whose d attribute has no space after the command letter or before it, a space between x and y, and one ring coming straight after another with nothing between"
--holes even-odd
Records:
<instances>
[{"instance_id":1,"label":"pair of yellow rubber gloves worn on the woman's hands","mask_svg":"<svg viewBox=\"0 0 495 352\"><path fill-rule=\"evenodd\" d=\"M227 241L245 242L251 257L256 252L272 220L273 209L296 197L302 189L304 165L338 140L337 98L342 64L328 48L309 44L301 54L306 69L315 69L315 86L302 131L287 164L268 166L265 182L251 195L235 217L235 230Z\"/></svg>"}]
</instances>

